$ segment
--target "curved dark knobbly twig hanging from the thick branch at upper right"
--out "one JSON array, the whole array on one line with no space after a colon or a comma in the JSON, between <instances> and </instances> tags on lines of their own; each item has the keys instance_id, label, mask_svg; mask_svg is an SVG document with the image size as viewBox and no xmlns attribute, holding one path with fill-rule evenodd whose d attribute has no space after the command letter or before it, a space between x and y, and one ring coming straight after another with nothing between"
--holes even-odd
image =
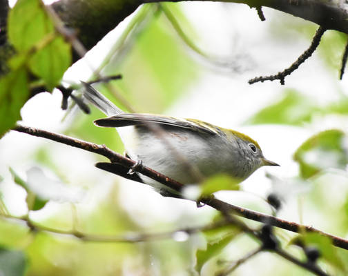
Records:
<instances>
[{"instance_id":1,"label":"curved dark knobbly twig hanging from the thick branch at upper right","mask_svg":"<svg viewBox=\"0 0 348 276\"><path fill-rule=\"evenodd\" d=\"M320 43L320 39L322 38L322 34L324 34L324 32L325 32L325 28L322 28L320 26L318 28L318 30L316 30L316 34L314 34L314 37L313 37L312 42L311 42L311 46L309 46L309 48L307 50L305 50L305 52L302 55L300 55L300 57L298 57L298 59L294 63L292 63L289 68L285 69L282 72L278 72L277 75L271 75L271 76L268 76L268 77L255 77L254 79L250 79L249 80L249 84L253 84L253 83L258 82L258 81L261 81L261 82L264 82L264 81L275 81L276 79L279 79L280 83L282 85L284 85L285 77L290 75L302 63L304 63L306 61L306 59L311 57L313 52L318 47L318 45Z\"/></svg>"}]
</instances>

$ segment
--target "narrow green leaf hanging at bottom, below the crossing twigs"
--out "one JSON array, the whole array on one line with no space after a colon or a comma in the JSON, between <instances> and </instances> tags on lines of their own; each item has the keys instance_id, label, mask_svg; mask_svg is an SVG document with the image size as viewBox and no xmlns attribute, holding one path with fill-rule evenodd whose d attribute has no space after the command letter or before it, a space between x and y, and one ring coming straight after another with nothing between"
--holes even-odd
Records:
<instances>
[{"instance_id":1,"label":"narrow green leaf hanging at bottom, below the crossing twigs","mask_svg":"<svg viewBox=\"0 0 348 276\"><path fill-rule=\"evenodd\" d=\"M214 235L216 235L216 233L214 233ZM204 264L212 257L215 257L221 253L221 251L231 242L234 237L234 232L224 235L224 237L220 237L219 239L215 239L213 242L209 242L205 250L197 250L195 270L200 273L200 270Z\"/></svg>"}]
</instances>

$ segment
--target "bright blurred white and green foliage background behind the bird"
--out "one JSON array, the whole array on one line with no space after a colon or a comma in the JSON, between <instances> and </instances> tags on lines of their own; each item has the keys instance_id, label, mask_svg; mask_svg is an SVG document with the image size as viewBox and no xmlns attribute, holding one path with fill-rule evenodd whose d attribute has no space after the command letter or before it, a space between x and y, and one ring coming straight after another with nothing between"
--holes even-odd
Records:
<instances>
[{"instance_id":1,"label":"bright blurred white and green foliage background behind the bird","mask_svg":"<svg viewBox=\"0 0 348 276\"><path fill-rule=\"evenodd\" d=\"M278 193L284 200L279 217L347 237L347 77L342 81L337 77L345 35L326 32L313 57L285 79L285 86L278 82L250 86L247 81L252 77L273 74L296 60L309 46L316 25L267 8L267 21L261 22L255 10L232 3L166 6L203 52L229 67L190 49L153 5L140 8L137 15L110 32L84 60L69 68L64 81L88 79L91 68L101 64L105 75L122 73L123 79L113 81L113 86L139 112L202 119L250 135L267 158L282 166L262 168L244 181L242 191L224 191L217 196L231 204L271 213L262 198ZM122 32L134 22L135 30L121 44ZM122 47L115 50L119 45ZM110 61L106 61L106 54L112 56ZM99 89L117 102L106 88ZM33 97L21 109L21 123L122 152L115 130L92 124L93 119L104 115L95 109L88 116L77 108L64 112L60 103L57 91ZM301 159L299 151L297 161L293 160L303 142L333 128L343 132L325 138L327 147L309 143L311 146L301 148L309 154ZM82 190L81 197L61 196L30 212L33 220L52 228L76 227L99 235L160 233L203 225L216 215L208 207L197 209L192 202L164 198L147 186L101 172L93 167L103 160L101 157L75 148L9 132L0 140L0 152L1 198L14 215L27 212L26 190L14 184L9 167L27 179L26 171L37 166L48 177ZM303 172L313 172L313 167L315 173ZM137 244L83 242L32 233L26 225L5 219L0 220L0 231L0 268L5 275L191 275L195 252L206 244L203 234L183 233L173 239ZM276 233L287 250L304 257L300 248L289 244L292 233L280 229ZM314 242L317 246L320 243L320 239ZM212 275L221 261L239 259L255 246L246 235L235 235L219 255L204 264L202 275ZM323 254L320 265L332 275L345 275L347 253L328 244L321 249L334 258ZM275 270L278 275L310 275L271 253L257 255L233 275L269 275Z\"/></svg>"}]
</instances>

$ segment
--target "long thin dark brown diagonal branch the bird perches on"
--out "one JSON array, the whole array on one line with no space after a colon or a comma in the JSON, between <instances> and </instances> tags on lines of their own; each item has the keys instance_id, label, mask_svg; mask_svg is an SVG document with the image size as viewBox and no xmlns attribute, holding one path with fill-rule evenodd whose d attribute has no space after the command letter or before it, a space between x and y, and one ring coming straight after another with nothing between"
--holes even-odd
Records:
<instances>
[{"instance_id":1,"label":"long thin dark brown diagonal branch the bird perches on","mask_svg":"<svg viewBox=\"0 0 348 276\"><path fill-rule=\"evenodd\" d=\"M68 146L73 146L75 148L81 148L83 150L88 150L90 152L95 152L98 155L103 155L104 157L107 157L111 162L120 164L128 169L133 168L135 166L136 162L132 159L129 159L127 157L124 157L123 155L120 155L117 152L114 152L113 150L110 150L106 146L100 146L97 144L93 144L90 142L82 141L79 139L75 139L72 137L68 137L66 135L59 135L53 132L48 132L46 130L39 130L37 128L29 128L26 126L17 126L13 130L27 133L29 135L42 137L46 139L50 139L52 141L57 141L62 144L66 144ZM168 188L171 188L177 192L180 192L183 188L183 185L179 182L170 179L169 177L166 177L165 175L162 175L159 172L156 172L155 170L152 170L151 168L140 166L138 172L142 173L142 175L146 175L147 177L150 177L151 179L155 179L156 181L164 184ZM325 233L323 231L320 231L316 228L313 228L311 226L304 226L301 224L297 224L296 222L286 221L284 219L279 219L278 217L273 217L271 215L265 215L253 210L249 210L247 208L241 208L239 206L235 206L232 204L227 204L224 201L221 201L219 199L215 199L213 197L208 199L200 199L200 201L203 204L209 205L216 210L220 210L222 213L233 213L233 215L239 215L241 217L245 217L247 219L252 219L254 221L260 221L264 224L269 224L271 226L276 226L279 228L283 228L285 230L289 230L296 233L303 233L303 232L313 232L318 233L320 235L323 235L325 237L329 237L332 240L332 243L334 246L338 246L340 248L348 250L348 240L342 239L340 237L336 237L334 235Z\"/></svg>"}]
</instances>

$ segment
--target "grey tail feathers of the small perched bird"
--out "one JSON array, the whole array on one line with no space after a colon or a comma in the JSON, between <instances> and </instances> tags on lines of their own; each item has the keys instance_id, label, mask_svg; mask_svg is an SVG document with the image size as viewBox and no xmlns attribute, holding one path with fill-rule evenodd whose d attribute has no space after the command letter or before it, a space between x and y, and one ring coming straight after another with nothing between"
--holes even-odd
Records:
<instances>
[{"instance_id":1,"label":"grey tail feathers of the small perched bird","mask_svg":"<svg viewBox=\"0 0 348 276\"><path fill-rule=\"evenodd\" d=\"M90 101L90 103L93 103L99 110L104 112L108 116L112 115L119 115L124 113L121 109L117 108L115 104L113 104L111 101L106 99L101 93L99 93L95 88L90 86L90 84L81 81L83 84L85 91L84 91L84 97Z\"/></svg>"}]
</instances>

